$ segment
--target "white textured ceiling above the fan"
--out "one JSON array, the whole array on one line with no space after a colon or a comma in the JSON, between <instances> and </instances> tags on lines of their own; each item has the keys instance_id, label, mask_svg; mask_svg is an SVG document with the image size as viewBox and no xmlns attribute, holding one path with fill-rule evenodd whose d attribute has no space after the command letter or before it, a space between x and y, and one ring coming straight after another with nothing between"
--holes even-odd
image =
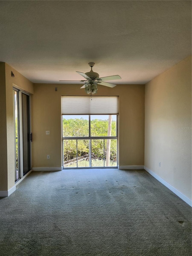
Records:
<instances>
[{"instance_id":1,"label":"white textured ceiling above the fan","mask_svg":"<svg viewBox=\"0 0 192 256\"><path fill-rule=\"evenodd\" d=\"M0 61L34 83L145 84L191 54L191 1L0 1ZM74 83L74 82L72 82Z\"/></svg>"}]
</instances>

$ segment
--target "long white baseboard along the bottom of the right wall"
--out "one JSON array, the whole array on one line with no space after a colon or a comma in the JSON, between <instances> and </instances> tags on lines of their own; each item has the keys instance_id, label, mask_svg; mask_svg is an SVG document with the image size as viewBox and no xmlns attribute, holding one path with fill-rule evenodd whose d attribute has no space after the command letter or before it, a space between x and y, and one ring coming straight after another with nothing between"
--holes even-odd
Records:
<instances>
[{"instance_id":1,"label":"long white baseboard along the bottom of the right wall","mask_svg":"<svg viewBox=\"0 0 192 256\"><path fill-rule=\"evenodd\" d=\"M144 169L151 174L155 179L157 179L159 182L161 182L164 186L169 188L174 194L176 194L178 197L180 197L185 203L190 205L192 207L192 200L184 195L182 192L180 192L178 189L174 188L170 183L159 177L156 173L154 173L152 170L144 166Z\"/></svg>"}]
</instances>

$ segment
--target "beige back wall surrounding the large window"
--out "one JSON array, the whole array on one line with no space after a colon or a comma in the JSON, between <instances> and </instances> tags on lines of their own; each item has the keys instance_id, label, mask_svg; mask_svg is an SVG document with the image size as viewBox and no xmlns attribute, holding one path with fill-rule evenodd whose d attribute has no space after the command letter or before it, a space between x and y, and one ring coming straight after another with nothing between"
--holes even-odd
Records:
<instances>
[{"instance_id":1,"label":"beige back wall surrounding the large window","mask_svg":"<svg viewBox=\"0 0 192 256\"><path fill-rule=\"evenodd\" d=\"M61 167L61 95L86 95L81 86L34 84L32 167ZM144 165L144 94L144 85L98 86L97 95L119 95L119 165Z\"/></svg>"}]
</instances>

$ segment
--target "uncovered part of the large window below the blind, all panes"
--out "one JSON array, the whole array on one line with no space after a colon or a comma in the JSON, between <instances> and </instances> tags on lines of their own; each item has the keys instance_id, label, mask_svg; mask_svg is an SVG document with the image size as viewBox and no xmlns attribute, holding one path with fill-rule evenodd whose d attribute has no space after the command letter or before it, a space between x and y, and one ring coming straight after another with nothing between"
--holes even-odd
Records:
<instances>
[{"instance_id":1,"label":"uncovered part of the large window below the blind, all panes","mask_svg":"<svg viewBox=\"0 0 192 256\"><path fill-rule=\"evenodd\" d=\"M117 167L117 115L63 115L63 166Z\"/></svg>"}]
</instances>

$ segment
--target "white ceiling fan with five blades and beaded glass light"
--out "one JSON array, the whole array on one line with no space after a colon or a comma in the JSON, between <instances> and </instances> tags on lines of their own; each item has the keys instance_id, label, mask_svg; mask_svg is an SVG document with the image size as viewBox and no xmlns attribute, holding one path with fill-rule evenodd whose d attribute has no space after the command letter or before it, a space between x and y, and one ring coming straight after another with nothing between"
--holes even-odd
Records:
<instances>
[{"instance_id":1,"label":"white ceiling fan with five blades and beaded glass light","mask_svg":"<svg viewBox=\"0 0 192 256\"><path fill-rule=\"evenodd\" d=\"M98 84L108 86L108 87L115 87L116 84L108 83L108 82L104 82L104 81L121 79L121 77L119 75L109 76L109 77L99 77L99 74L96 72L93 72L93 70L92 70L92 67L95 65L95 63L90 62L90 63L88 63L88 65L91 67L91 70L89 72L82 73L82 72L76 71L79 75L84 77L86 80L79 80L79 81L59 80L59 81L85 82L85 84L81 88L85 88L85 92L87 94L93 95L93 94L97 93L97 90L98 90L97 85Z\"/></svg>"}]
</instances>

